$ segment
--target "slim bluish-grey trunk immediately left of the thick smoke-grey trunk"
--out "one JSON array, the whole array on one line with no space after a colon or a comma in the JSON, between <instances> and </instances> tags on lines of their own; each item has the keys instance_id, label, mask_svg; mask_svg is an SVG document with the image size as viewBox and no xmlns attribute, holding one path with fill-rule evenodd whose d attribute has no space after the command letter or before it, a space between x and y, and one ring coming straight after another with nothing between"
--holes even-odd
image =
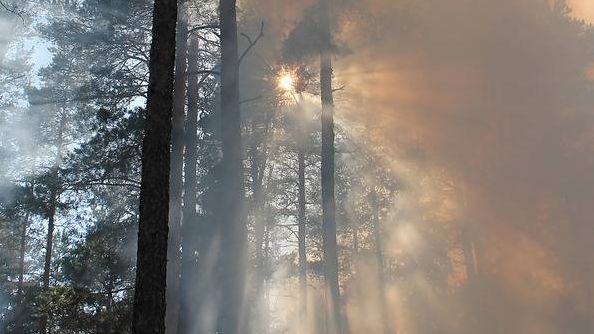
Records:
<instances>
[{"instance_id":1,"label":"slim bluish-grey trunk immediately left of the thick smoke-grey trunk","mask_svg":"<svg viewBox=\"0 0 594 334\"><path fill-rule=\"evenodd\" d=\"M192 37L188 53L188 73L198 72L198 41ZM198 74L188 75L188 115L186 118L186 155L184 164L184 207L182 224L182 268L178 332L197 333L196 322L201 301L197 297L197 262L199 226L196 214L198 181L196 164L198 159ZM201 332L198 332L201 333Z\"/></svg>"}]
</instances>

